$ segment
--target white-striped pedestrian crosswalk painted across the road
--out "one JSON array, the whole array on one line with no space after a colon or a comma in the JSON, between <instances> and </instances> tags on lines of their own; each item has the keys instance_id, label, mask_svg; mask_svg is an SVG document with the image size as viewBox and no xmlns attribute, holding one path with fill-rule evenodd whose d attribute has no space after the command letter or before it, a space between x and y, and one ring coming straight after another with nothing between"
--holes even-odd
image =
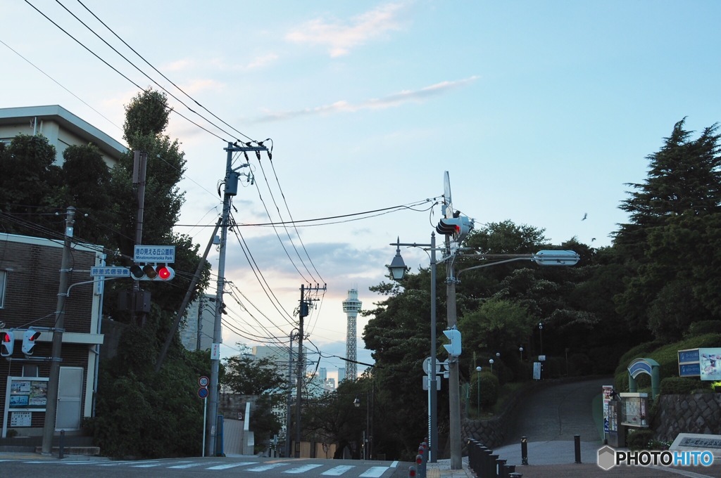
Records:
<instances>
[{"instance_id":1,"label":"white-striped pedestrian crosswalk painted across the road","mask_svg":"<svg viewBox=\"0 0 721 478\"><path fill-rule=\"evenodd\" d=\"M41 463L40 461L26 461L26 463ZM358 465L335 465L332 461L327 464L314 461L311 463L301 461L228 461L218 464L217 460L208 459L172 459L172 460L148 460L148 461L60 461L58 464L66 466L92 466L92 467L115 467L115 468L141 468L141 469L168 469L168 470L204 470L207 472L242 472L242 474L265 474L267 472L282 473L283 475L306 476L313 472L322 477L344 477L344 478L381 478L389 469L395 469L397 462L389 466L373 466L371 464ZM392 474L388 473L386 476Z\"/></svg>"}]
</instances>

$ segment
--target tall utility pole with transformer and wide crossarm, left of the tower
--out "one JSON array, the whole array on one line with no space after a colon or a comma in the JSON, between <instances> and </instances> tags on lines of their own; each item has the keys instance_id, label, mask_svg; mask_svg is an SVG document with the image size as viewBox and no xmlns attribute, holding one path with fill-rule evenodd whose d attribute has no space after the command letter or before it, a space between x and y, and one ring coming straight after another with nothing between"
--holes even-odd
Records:
<instances>
[{"instance_id":1,"label":"tall utility pole with transformer and wide crossarm, left of the tower","mask_svg":"<svg viewBox=\"0 0 721 478\"><path fill-rule=\"evenodd\" d=\"M216 455L216 421L218 417L218 368L220 365L220 344L223 341L221 328L221 317L223 310L223 289L225 286L225 258L226 247L228 243L228 224L230 217L231 198L238 194L238 179L240 168L249 166L249 163L243 163L237 168L233 168L233 153L247 153L248 151L267 151L265 146L238 146L237 143L228 143L228 147L224 148L226 155L226 174L225 174L225 191L223 195L223 217L221 217L221 243L218 254L218 281L216 284L216 314L213 323L213 346L211 347L211 383L208 389L208 414L210 418L205 425L205 434L208 441L205 443L205 456ZM247 156L246 156L247 157Z\"/></svg>"}]
</instances>

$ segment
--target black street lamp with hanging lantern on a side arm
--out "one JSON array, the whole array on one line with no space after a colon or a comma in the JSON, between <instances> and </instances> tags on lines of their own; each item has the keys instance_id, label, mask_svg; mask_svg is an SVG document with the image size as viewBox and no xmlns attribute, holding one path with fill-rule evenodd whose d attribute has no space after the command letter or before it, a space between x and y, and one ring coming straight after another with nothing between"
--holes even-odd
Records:
<instances>
[{"instance_id":1,"label":"black street lamp with hanging lantern on a side arm","mask_svg":"<svg viewBox=\"0 0 721 478\"><path fill-rule=\"evenodd\" d=\"M435 463L438 460L438 406L436 405L438 392L436 390L435 374L435 233L430 233L430 244L417 243L401 243L400 238L396 239L396 255L393 257L388 267L393 279L399 281L403 279L405 273L409 270L401 257L401 245L408 247L429 248L430 249L430 373L428 374L428 461Z\"/></svg>"}]
</instances>

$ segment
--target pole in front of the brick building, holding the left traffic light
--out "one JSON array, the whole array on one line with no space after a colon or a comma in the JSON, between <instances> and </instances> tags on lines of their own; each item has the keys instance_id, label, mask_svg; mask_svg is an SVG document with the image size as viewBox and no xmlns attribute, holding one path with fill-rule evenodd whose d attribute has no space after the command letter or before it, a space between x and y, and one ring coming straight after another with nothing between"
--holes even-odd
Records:
<instances>
[{"instance_id":1,"label":"pole in front of the brick building, holding the left traffic light","mask_svg":"<svg viewBox=\"0 0 721 478\"><path fill-rule=\"evenodd\" d=\"M63 242L63 258L60 264L60 284L58 285L58 302L55 312L53 330L53 352L50 354L50 379L48 379L48 400L45 405L45 423L43 424L43 455L53 451L53 435L58 415L58 385L60 384L60 362L62 361L63 327L65 317L65 299L68 296L68 272L70 269L70 245L73 237L75 208L68 207L65 219L65 241Z\"/></svg>"}]
</instances>

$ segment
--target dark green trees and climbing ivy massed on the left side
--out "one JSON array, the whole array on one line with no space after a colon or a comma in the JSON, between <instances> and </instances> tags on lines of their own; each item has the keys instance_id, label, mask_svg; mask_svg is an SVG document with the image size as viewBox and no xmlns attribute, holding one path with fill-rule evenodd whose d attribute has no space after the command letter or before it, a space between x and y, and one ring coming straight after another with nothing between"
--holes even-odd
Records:
<instances>
[{"instance_id":1,"label":"dark green trees and climbing ivy massed on the left side","mask_svg":"<svg viewBox=\"0 0 721 478\"><path fill-rule=\"evenodd\" d=\"M118 294L131 281L107 281L106 317L125 325L118 355L100 364L94 420L87 420L104 454L116 456L198 455L203 408L197 380L210 373L210 356L188 353L175 341L159 373L154 364L178 313L190 277L198 268L199 246L173 233L185 171L179 143L162 134L169 109L164 95L138 94L126 108L125 140L131 150L110 169L94 145L69 146L61 164L42 135L18 135L0 143L0 225L4 233L58 238L66 208L76 208L74 240L102 246L109 265L130 265L136 237L133 150L148 152L143 243L175 245L172 283L143 283L152 309L141 320L118 307ZM193 291L208 284L209 264ZM107 333L107 332L106 332ZM106 338L106 341L108 338Z\"/></svg>"}]
</instances>

